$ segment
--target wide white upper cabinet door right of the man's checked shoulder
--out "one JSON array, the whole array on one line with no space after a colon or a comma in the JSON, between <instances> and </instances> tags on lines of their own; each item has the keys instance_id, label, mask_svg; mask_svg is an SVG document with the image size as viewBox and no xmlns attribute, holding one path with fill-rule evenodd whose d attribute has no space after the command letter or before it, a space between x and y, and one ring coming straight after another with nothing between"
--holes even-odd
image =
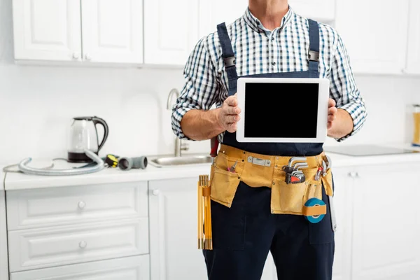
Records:
<instances>
[{"instance_id":1,"label":"wide white upper cabinet door right of the man's checked shoulder","mask_svg":"<svg viewBox=\"0 0 420 280\"><path fill-rule=\"evenodd\" d=\"M408 1L337 0L335 27L355 73L402 73L405 69Z\"/></svg>"}]
</instances>

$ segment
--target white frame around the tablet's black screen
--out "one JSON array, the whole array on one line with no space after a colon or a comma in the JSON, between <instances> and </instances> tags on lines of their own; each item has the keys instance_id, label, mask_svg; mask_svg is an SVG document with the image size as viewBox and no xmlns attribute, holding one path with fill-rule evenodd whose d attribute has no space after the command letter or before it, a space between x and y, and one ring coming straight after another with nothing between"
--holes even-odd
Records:
<instances>
[{"instance_id":1,"label":"white frame around the tablet's black screen","mask_svg":"<svg viewBox=\"0 0 420 280\"><path fill-rule=\"evenodd\" d=\"M255 138L245 137L245 85L246 83L318 83L318 121L315 138ZM239 78L237 80L237 99L241 109L241 117L237 124L237 141L244 143L323 143L327 138L328 99L330 96L330 80L327 78ZM278 123L281 129L281 122Z\"/></svg>"}]
</instances>

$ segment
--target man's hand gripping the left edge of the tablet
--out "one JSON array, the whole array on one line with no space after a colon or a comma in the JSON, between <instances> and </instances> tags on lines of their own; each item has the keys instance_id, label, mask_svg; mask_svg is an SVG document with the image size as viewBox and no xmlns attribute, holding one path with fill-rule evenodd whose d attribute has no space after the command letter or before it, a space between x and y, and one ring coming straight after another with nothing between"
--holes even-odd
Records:
<instances>
[{"instance_id":1,"label":"man's hand gripping the left edge of the tablet","mask_svg":"<svg viewBox=\"0 0 420 280\"><path fill-rule=\"evenodd\" d=\"M228 97L223 102L223 106L218 112L218 123L223 130L227 130L230 133L236 132L237 123L240 119L239 113L241 113L241 109L238 107L238 99L235 93L235 95Z\"/></svg>"}]
</instances>

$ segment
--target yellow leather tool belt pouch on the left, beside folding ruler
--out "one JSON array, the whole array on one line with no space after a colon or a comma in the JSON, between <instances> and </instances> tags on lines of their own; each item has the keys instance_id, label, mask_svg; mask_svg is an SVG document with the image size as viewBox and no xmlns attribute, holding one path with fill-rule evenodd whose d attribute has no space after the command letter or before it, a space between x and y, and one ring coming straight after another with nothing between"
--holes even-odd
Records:
<instances>
[{"instance_id":1,"label":"yellow leather tool belt pouch on the left, beside folding ruler","mask_svg":"<svg viewBox=\"0 0 420 280\"><path fill-rule=\"evenodd\" d=\"M239 160L235 167L235 172L229 172L228 167L232 167L237 162L236 158L229 158L223 153L219 153L211 165L211 200L231 207L233 198L241 181L241 172L244 162Z\"/></svg>"}]
</instances>

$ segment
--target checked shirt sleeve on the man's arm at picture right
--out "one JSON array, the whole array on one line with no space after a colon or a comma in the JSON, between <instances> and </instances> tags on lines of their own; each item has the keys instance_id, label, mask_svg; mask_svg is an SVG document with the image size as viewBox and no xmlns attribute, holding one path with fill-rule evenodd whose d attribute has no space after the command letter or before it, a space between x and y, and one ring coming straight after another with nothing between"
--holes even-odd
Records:
<instances>
[{"instance_id":1,"label":"checked shirt sleeve on the man's arm at picture right","mask_svg":"<svg viewBox=\"0 0 420 280\"><path fill-rule=\"evenodd\" d=\"M356 86L353 72L351 71L350 58L340 36L337 36L337 46L332 57L332 65L330 72L330 93L337 103L337 108L344 109L349 112L353 118L353 131L336 139L343 141L356 134L363 126L366 120L365 101L360 96L360 91Z\"/></svg>"}]
</instances>

